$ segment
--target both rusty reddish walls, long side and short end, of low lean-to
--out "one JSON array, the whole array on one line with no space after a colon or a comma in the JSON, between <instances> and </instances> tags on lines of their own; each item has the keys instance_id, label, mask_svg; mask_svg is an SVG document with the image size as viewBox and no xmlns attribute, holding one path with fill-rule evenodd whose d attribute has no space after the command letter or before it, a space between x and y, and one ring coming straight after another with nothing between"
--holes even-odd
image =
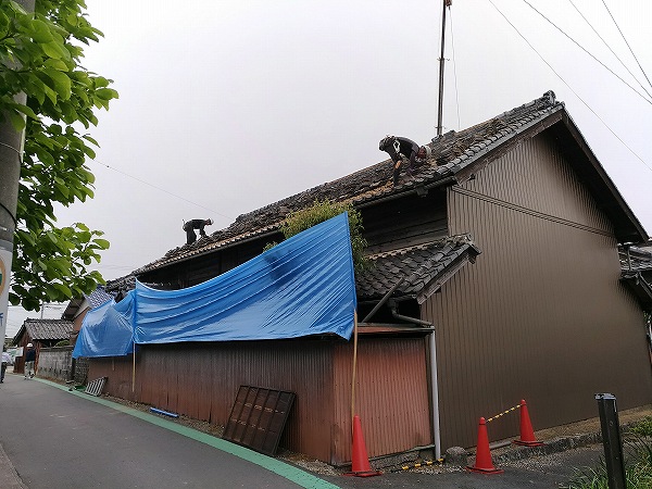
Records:
<instances>
[{"instance_id":1,"label":"both rusty reddish walls, long side and short end, of low lean-to","mask_svg":"<svg viewBox=\"0 0 652 489\"><path fill-rule=\"evenodd\" d=\"M92 359L89 379L108 377L104 392L224 425L240 385L297 393L280 446L317 460L351 460L352 342L242 341L147 346L133 358ZM358 413L368 456L430 442L422 387L423 339L361 339ZM406 401L409 400L409 401Z\"/></svg>"}]
</instances>

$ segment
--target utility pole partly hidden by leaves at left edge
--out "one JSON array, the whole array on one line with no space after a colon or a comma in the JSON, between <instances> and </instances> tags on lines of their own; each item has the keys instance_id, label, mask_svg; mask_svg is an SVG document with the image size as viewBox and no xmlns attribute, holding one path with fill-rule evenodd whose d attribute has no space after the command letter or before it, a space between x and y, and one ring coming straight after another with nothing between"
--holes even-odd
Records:
<instances>
[{"instance_id":1,"label":"utility pole partly hidden by leaves at left edge","mask_svg":"<svg viewBox=\"0 0 652 489\"><path fill-rule=\"evenodd\" d=\"M16 0L16 3L26 12L34 12L35 0ZM14 100L27 104L25 93L16 93ZM4 344L25 131L16 130L7 114L2 115L0 121L0 337Z\"/></svg>"}]
</instances>

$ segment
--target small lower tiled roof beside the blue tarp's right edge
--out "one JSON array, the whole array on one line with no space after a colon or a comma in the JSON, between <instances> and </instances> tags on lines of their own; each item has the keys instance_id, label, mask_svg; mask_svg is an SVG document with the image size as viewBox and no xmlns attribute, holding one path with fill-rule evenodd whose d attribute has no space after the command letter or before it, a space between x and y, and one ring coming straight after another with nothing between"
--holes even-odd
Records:
<instances>
[{"instance_id":1,"label":"small lower tiled roof beside the blue tarp's right edge","mask_svg":"<svg viewBox=\"0 0 652 489\"><path fill-rule=\"evenodd\" d=\"M419 303L436 292L480 250L468 235L402 248L369 256L372 268L356 276L359 300L412 296Z\"/></svg>"}]
</instances>

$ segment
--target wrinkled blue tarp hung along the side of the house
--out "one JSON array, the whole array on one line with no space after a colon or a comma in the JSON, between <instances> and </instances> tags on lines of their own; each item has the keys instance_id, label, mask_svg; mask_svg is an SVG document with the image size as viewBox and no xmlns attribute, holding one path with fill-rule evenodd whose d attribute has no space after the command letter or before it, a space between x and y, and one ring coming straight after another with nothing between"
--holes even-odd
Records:
<instances>
[{"instance_id":1,"label":"wrinkled blue tarp hung along the side of the house","mask_svg":"<svg viewBox=\"0 0 652 489\"><path fill-rule=\"evenodd\" d=\"M349 339L356 302L347 213L187 289L155 290L137 283L127 298L109 308L127 300L115 314L96 314L101 308L87 314L74 358L128 354L122 348L128 321L138 344L327 333ZM120 340L100 341L113 330Z\"/></svg>"}]
</instances>

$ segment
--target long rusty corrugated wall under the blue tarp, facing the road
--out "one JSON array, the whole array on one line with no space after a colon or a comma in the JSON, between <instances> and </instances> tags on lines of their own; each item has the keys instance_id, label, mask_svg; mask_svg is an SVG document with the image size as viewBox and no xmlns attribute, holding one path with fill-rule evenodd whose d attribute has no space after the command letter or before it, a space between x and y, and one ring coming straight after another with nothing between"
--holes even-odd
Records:
<instances>
[{"instance_id":1,"label":"long rusty corrugated wall under the blue tarp, facing the road","mask_svg":"<svg viewBox=\"0 0 652 489\"><path fill-rule=\"evenodd\" d=\"M331 342L242 341L148 346L131 359L92 360L89 379L104 392L224 425L241 385L297 393L280 446L330 460Z\"/></svg>"}]
</instances>

